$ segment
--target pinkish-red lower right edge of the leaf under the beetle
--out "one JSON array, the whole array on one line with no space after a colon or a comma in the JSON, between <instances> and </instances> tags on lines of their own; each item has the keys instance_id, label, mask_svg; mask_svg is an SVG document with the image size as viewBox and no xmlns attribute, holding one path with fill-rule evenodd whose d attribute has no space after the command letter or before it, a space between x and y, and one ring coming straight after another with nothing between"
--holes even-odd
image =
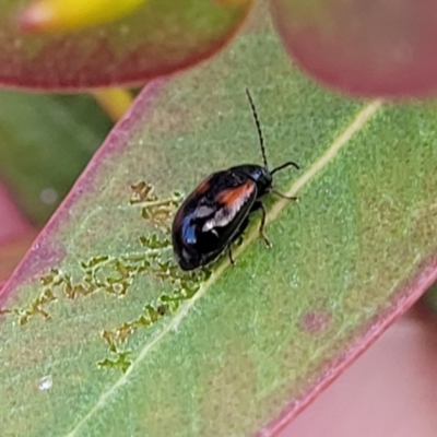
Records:
<instances>
[{"instance_id":1,"label":"pinkish-red lower right edge of the leaf under the beetle","mask_svg":"<svg viewBox=\"0 0 437 437\"><path fill-rule=\"evenodd\" d=\"M256 437L274 437L300 414L322 391L345 371L382 333L400 319L437 281L437 253L423 261L412 279L405 280L395 291L388 309L382 310L363 330L350 347L338 358L327 364L317 380L305 394L295 399L280 415L255 434Z\"/></svg>"}]
</instances>

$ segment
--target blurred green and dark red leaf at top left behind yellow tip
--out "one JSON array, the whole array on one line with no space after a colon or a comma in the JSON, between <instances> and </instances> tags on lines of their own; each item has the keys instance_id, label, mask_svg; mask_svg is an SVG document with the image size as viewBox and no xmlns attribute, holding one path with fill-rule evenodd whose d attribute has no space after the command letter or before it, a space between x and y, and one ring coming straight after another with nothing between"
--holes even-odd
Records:
<instances>
[{"instance_id":1,"label":"blurred green and dark red leaf at top left behind yellow tip","mask_svg":"<svg viewBox=\"0 0 437 437\"><path fill-rule=\"evenodd\" d=\"M80 88L144 83L208 58L237 32L252 0L149 0L115 23L62 35L19 31L23 2L0 0L0 83Z\"/></svg>"}]
</instances>

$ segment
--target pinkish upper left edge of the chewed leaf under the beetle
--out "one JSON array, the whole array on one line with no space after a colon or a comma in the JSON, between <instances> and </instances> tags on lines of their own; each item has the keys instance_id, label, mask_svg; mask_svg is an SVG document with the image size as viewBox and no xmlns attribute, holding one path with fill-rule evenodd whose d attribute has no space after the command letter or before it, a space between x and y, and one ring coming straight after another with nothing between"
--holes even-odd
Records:
<instances>
[{"instance_id":1,"label":"pinkish upper left edge of the chewed leaf under the beetle","mask_svg":"<svg viewBox=\"0 0 437 437\"><path fill-rule=\"evenodd\" d=\"M64 252L59 247L52 247L50 235L68 220L70 206L73 205L75 200L94 186L95 175L101 162L108 155L123 151L127 142L120 142L120 137L122 138L125 132L131 129L140 115L147 114L150 109L149 102L166 82L167 80L164 79L150 82L134 99L125 117L113 127L106 140L83 169L69 193L37 235L29 250L20 261L9 280L2 284L3 286L0 288L0 310L4 307L4 303L12 297L12 292L19 284L39 277L42 271L49 270L62 260Z\"/></svg>"}]
</instances>

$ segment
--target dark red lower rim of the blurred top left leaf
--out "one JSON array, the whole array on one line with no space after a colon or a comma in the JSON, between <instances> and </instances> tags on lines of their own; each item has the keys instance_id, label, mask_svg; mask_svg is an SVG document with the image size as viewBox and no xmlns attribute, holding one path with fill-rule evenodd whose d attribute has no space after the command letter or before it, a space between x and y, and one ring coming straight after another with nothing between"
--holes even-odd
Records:
<instances>
[{"instance_id":1,"label":"dark red lower rim of the blurred top left leaf","mask_svg":"<svg viewBox=\"0 0 437 437\"><path fill-rule=\"evenodd\" d=\"M241 15L241 20L228 32L228 34L224 38L220 38L218 40L211 44L208 50L201 52L193 52L191 56L188 56L186 59L180 61L176 66L163 66L161 68L154 68L151 72L145 73L138 71L131 75L127 75L123 80L115 80L111 78L104 78L103 80L90 80L86 84L64 84L64 85L50 85L49 83L40 83L33 82L32 74L27 78L26 83L16 83L11 78L2 76L0 74L0 86L4 86L11 90L21 90L21 91L34 91L34 92L54 92L54 93L78 93L90 91L93 88L99 87L113 87L113 86L123 86L123 87L141 87L150 81L164 79L172 76L175 73L181 73L191 68L196 68L201 66L203 62L206 62L209 59L218 55L224 48L232 44L232 42L239 34L244 25L247 23L250 13L252 12L255 2L247 8L245 13ZM59 81L61 79L58 78Z\"/></svg>"}]
</instances>

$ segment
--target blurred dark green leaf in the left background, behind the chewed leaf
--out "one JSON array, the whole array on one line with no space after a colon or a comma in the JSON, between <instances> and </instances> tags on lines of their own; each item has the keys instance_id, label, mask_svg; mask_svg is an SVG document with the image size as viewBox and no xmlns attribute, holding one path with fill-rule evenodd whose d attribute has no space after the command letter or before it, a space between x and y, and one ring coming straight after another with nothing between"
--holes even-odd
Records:
<instances>
[{"instance_id":1,"label":"blurred dark green leaf in the left background, behind the chewed leaf","mask_svg":"<svg viewBox=\"0 0 437 437\"><path fill-rule=\"evenodd\" d=\"M110 126L91 96L0 91L0 178L33 223L47 221Z\"/></svg>"}]
</instances>

